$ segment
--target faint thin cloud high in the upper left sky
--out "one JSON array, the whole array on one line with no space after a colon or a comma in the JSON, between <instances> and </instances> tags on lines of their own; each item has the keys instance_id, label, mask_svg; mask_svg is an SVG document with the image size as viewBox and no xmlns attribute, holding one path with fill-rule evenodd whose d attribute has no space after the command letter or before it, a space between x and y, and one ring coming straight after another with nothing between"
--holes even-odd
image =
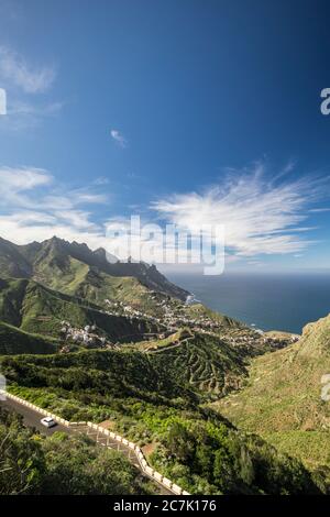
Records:
<instances>
[{"instance_id":1,"label":"faint thin cloud high in the upper left sky","mask_svg":"<svg viewBox=\"0 0 330 517\"><path fill-rule=\"evenodd\" d=\"M25 94L46 91L55 79L54 67L32 67L12 50L0 46L0 77Z\"/></svg>"}]
</instances>

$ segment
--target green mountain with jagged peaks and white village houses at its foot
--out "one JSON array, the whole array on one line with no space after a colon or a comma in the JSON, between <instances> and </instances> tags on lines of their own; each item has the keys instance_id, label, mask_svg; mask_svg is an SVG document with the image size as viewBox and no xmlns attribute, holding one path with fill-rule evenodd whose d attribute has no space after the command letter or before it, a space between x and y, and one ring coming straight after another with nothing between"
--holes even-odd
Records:
<instances>
[{"instance_id":1,"label":"green mountain with jagged peaks and white village houses at its foot","mask_svg":"<svg viewBox=\"0 0 330 517\"><path fill-rule=\"evenodd\" d=\"M88 342L97 345L100 340L131 342L185 326L242 328L201 305L186 306L182 300L187 293L154 266L110 264L105 250L94 252L86 244L53 238L16 246L0 239L0 321L30 333L57 339L65 333L66 340L69 334L86 342L82 331L92 327ZM19 278L9 277L11 272Z\"/></svg>"}]
</instances>

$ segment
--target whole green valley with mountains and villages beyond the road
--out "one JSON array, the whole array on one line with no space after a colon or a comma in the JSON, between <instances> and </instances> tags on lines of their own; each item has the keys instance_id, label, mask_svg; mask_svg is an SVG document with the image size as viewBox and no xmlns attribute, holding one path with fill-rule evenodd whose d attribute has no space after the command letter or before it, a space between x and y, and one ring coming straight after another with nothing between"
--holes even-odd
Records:
<instances>
[{"instance_id":1,"label":"whole green valley with mountains and villages beyond the road","mask_svg":"<svg viewBox=\"0 0 330 517\"><path fill-rule=\"evenodd\" d=\"M191 494L329 492L327 319L264 333L186 302L154 266L57 238L0 240L0 266L11 393L108 422Z\"/></svg>"}]
</instances>

